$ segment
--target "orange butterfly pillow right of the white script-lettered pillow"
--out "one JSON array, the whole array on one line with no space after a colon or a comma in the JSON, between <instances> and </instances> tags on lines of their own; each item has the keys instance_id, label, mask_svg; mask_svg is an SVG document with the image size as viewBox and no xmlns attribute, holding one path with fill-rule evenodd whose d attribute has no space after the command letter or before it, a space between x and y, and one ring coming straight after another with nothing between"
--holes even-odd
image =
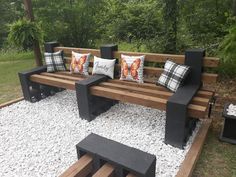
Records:
<instances>
[{"instance_id":1,"label":"orange butterfly pillow right of the white script-lettered pillow","mask_svg":"<svg viewBox=\"0 0 236 177\"><path fill-rule=\"evenodd\" d=\"M143 67L145 56L121 55L120 80L131 80L143 83Z\"/></svg>"}]
</instances>

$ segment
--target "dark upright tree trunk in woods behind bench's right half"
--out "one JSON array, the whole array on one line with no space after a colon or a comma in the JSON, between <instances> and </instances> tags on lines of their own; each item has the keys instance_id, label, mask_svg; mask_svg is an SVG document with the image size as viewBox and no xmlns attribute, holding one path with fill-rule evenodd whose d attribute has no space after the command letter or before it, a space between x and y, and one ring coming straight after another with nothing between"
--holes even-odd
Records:
<instances>
[{"instance_id":1,"label":"dark upright tree trunk in woods behind bench's right half","mask_svg":"<svg viewBox=\"0 0 236 177\"><path fill-rule=\"evenodd\" d=\"M176 53L177 45L177 0L166 0L164 8L164 23L166 33L166 53Z\"/></svg>"}]
</instances>

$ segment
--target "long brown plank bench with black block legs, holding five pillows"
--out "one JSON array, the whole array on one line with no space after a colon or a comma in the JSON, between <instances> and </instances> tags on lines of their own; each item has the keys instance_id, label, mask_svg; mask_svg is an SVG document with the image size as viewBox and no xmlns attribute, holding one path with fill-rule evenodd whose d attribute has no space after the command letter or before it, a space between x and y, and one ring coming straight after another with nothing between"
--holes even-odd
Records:
<instances>
[{"instance_id":1,"label":"long brown plank bench with black block legs, holding five pillows","mask_svg":"<svg viewBox=\"0 0 236 177\"><path fill-rule=\"evenodd\" d=\"M46 67L42 67L30 72L19 73L26 100L32 101L32 95L37 95L37 98L40 99L40 92L48 93L48 90L56 90L57 88L76 90L76 95L79 98L80 117L88 121L108 110L116 101L166 110L166 143L177 147L184 146L188 136L194 129L197 119L207 118L207 113L214 98L214 89L206 90L204 87L217 81L218 75L212 71L218 67L219 59L205 57L205 51L194 50L187 51L186 55L169 55L122 52L117 51L117 46L115 45L101 47L101 50L58 47L57 45L56 43L46 44L46 51L63 50L67 64L71 61L72 51L91 53L108 59L117 58L115 79L109 79L102 75L84 77L78 74L71 74L69 71L47 73ZM119 80L121 54L145 55L144 84ZM194 68L195 72L190 74L191 77L188 79L188 84L176 93L172 93L166 88L155 84L168 58L176 63L192 64L191 67ZM92 66L93 60L90 62L90 73ZM182 131L179 131L179 129Z\"/></svg>"}]
</instances>

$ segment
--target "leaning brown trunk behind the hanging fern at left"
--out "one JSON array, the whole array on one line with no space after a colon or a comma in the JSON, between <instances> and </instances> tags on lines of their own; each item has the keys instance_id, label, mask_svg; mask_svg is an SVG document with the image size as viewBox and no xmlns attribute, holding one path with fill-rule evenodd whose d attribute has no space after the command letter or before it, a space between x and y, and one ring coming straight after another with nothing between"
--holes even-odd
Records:
<instances>
[{"instance_id":1,"label":"leaning brown trunk behind the hanging fern at left","mask_svg":"<svg viewBox=\"0 0 236 177\"><path fill-rule=\"evenodd\" d=\"M23 0L23 2L24 2L24 6L25 6L26 17L30 21L34 21L34 15L33 15L31 0ZM42 66L43 62L42 62L42 54L41 54L41 50L40 50L39 41L34 41L33 50L34 50L36 65L37 66Z\"/></svg>"}]
</instances>

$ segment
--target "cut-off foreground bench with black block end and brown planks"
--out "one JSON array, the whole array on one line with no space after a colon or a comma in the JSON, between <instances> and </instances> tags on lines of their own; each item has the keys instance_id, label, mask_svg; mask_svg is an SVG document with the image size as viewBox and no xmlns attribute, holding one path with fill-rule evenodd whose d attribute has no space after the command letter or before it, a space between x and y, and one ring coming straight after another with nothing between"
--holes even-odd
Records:
<instances>
[{"instance_id":1,"label":"cut-off foreground bench with black block end and brown planks","mask_svg":"<svg viewBox=\"0 0 236 177\"><path fill-rule=\"evenodd\" d=\"M76 145L78 161L60 177L155 177L156 157L90 134Z\"/></svg>"}]
</instances>

